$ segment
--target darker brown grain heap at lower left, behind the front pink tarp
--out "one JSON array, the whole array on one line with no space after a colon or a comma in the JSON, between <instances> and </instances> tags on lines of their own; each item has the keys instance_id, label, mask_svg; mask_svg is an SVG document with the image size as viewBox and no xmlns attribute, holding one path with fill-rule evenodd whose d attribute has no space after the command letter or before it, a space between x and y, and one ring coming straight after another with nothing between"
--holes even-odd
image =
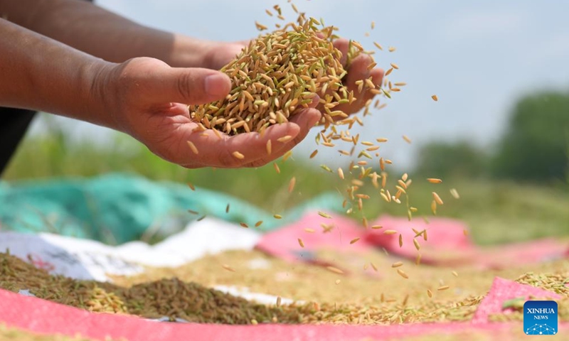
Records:
<instances>
[{"instance_id":1,"label":"darker brown grain heap at lower left, behind the front pink tarp","mask_svg":"<svg viewBox=\"0 0 569 341\"><path fill-rule=\"evenodd\" d=\"M299 322L294 310L251 303L177 278L122 288L111 283L51 276L9 254L0 254L0 288L14 292L27 289L38 298L85 310L144 318L166 316L171 320L225 324Z\"/></svg>"}]
</instances>

